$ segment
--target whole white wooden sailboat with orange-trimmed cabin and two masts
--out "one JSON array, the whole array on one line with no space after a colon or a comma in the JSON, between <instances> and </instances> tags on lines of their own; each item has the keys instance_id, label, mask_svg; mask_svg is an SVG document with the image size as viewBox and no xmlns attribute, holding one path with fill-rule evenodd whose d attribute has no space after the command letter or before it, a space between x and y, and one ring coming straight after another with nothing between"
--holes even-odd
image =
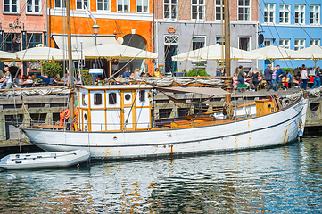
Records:
<instances>
[{"instance_id":1,"label":"whole white wooden sailboat with orange-trimmed cabin and two masts","mask_svg":"<svg viewBox=\"0 0 322 214\"><path fill-rule=\"evenodd\" d=\"M70 19L69 1L66 5ZM225 8L229 16L228 5ZM225 24L228 30L229 21ZM230 70L229 31L226 37L225 65ZM70 29L68 41L71 50ZM69 57L72 70L71 53ZM308 106L305 93L284 99L272 95L234 110L230 92L219 87L164 87L141 82L72 86L71 79L70 84L69 120L59 125L29 126L21 130L32 144L47 152L82 149L90 152L93 159L142 159L286 144L303 135ZM155 120L152 101L155 90L225 95L227 107L208 114Z\"/></svg>"}]
</instances>

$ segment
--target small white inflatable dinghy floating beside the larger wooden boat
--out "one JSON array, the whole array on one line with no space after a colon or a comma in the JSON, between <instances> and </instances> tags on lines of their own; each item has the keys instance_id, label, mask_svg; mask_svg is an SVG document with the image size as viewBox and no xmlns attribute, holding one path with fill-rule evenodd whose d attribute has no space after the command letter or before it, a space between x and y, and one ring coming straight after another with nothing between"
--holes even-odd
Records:
<instances>
[{"instance_id":1,"label":"small white inflatable dinghy floating beside the larger wooden boat","mask_svg":"<svg viewBox=\"0 0 322 214\"><path fill-rule=\"evenodd\" d=\"M90 154L87 150L9 154L1 159L0 168L62 168L87 161L89 158Z\"/></svg>"}]
</instances>

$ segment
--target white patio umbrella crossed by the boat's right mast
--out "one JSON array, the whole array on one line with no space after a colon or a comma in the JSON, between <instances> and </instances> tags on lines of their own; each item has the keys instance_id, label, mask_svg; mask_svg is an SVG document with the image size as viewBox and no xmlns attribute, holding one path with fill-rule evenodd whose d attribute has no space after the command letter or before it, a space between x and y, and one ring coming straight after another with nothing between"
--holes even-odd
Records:
<instances>
[{"instance_id":1,"label":"white patio umbrella crossed by the boat's right mast","mask_svg":"<svg viewBox=\"0 0 322 214\"><path fill-rule=\"evenodd\" d=\"M174 61L197 61L197 60L212 60L212 61L221 61L225 59L225 51L222 50L223 45L211 45L202 47L200 49L181 53L177 56L172 56ZM230 59L231 60L263 60L264 56L259 53L247 52L235 47L230 47Z\"/></svg>"}]
</instances>

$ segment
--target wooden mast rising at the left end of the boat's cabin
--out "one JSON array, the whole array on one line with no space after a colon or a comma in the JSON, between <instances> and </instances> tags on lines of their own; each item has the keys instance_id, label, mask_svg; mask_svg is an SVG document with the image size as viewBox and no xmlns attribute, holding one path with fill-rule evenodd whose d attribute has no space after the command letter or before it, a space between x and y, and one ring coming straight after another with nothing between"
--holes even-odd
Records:
<instances>
[{"instance_id":1,"label":"wooden mast rising at the left end of the boat's cabin","mask_svg":"<svg viewBox=\"0 0 322 214\"><path fill-rule=\"evenodd\" d=\"M73 81L73 66L71 55L71 30L70 30L70 0L66 0L66 18L67 18L67 43L68 43L68 64L69 64L69 85L70 85L70 130L74 121L74 81Z\"/></svg>"}]
</instances>

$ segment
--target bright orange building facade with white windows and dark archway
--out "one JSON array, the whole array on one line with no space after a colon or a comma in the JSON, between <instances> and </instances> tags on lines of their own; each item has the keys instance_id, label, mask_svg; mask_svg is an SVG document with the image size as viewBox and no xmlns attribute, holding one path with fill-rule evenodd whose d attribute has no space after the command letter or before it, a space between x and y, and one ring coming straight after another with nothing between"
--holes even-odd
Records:
<instances>
[{"instance_id":1,"label":"bright orange building facade with white windows and dark archway","mask_svg":"<svg viewBox=\"0 0 322 214\"><path fill-rule=\"evenodd\" d=\"M63 0L48 0L47 2L48 42L57 46L55 36L66 35L66 10ZM153 52L153 1L152 0L71 0L70 29L73 36L93 36L95 22L89 17L85 8L95 17L99 26L97 37L122 37L123 45L134 46ZM153 61L104 62L106 73L119 70L128 63L130 70L138 67L142 71L153 70ZM106 65L109 64L110 65ZM86 65L93 67L92 62Z\"/></svg>"}]
</instances>

